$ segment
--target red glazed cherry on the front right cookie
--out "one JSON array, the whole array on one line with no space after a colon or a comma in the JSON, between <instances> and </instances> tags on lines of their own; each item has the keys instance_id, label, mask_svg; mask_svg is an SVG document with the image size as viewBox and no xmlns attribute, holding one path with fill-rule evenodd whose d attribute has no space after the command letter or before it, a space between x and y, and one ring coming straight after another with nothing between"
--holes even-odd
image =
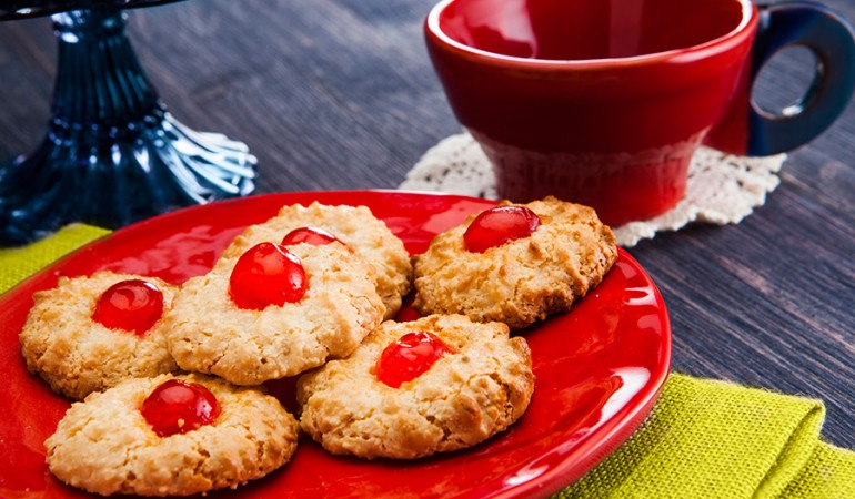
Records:
<instances>
[{"instance_id":1,"label":"red glazed cherry on the front right cookie","mask_svg":"<svg viewBox=\"0 0 855 499\"><path fill-rule=\"evenodd\" d=\"M385 347L380 354L374 371L378 379L398 388L401 384L418 378L440 357L451 353L451 348L432 333L408 333Z\"/></svg>"}]
</instances>

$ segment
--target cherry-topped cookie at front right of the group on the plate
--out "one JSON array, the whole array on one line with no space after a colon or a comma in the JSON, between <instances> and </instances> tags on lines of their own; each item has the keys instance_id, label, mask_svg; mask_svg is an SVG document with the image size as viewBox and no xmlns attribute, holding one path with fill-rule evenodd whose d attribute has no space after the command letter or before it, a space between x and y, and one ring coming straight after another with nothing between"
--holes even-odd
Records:
<instances>
[{"instance_id":1,"label":"cherry-topped cookie at front right of the group on the plate","mask_svg":"<svg viewBox=\"0 0 855 499\"><path fill-rule=\"evenodd\" d=\"M505 430L534 390L525 339L465 316L385 322L298 381L300 425L326 450L413 459Z\"/></svg>"}]
</instances>

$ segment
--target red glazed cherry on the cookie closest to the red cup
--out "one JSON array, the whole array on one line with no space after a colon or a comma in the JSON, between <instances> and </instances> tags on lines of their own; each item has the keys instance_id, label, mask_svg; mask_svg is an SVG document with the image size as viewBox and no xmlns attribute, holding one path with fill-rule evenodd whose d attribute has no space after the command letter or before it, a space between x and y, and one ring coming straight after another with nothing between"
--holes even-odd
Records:
<instances>
[{"instance_id":1,"label":"red glazed cherry on the cookie closest to the red cup","mask_svg":"<svg viewBox=\"0 0 855 499\"><path fill-rule=\"evenodd\" d=\"M540 225L537 215L525 206L496 206L472 221L463 234L463 243L473 253L484 253L509 241L527 237Z\"/></svg>"}]
</instances>

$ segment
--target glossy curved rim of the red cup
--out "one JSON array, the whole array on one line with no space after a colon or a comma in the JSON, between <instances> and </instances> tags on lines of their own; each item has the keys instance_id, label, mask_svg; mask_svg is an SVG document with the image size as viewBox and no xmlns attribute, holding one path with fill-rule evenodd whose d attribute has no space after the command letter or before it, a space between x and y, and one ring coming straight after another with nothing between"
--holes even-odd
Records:
<instances>
[{"instance_id":1,"label":"glossy curved rim of the red cup","mask_svg":"<svg viewBox=\"0 0 855 499\"><path fill-rule=\"evenodd\" d=\"M738 44L745 35L753 32L752 27L756 24L758 10L752 0L732 0L742 7L742 19L740 23L731 31L721 37L681 49L665 50L662 52L651 52L631 57L600 58L600 59L534 59L506 55L496 52L490 52L482 49L461 43L440 28L440 14L452 3L464 0L442 0L431 8L424 20L424 31L428 33L429 41L433 40L437 45L445 47L461 55L470 57L485 63L495 65L515 65L531 70L536 69L604 69L615 67L627 67L638 64L657 63L666 60L691 60L702 59L711 53L720 52ZM742 37L741 37L742 35ZM730 43L728 43L730 42Z\"/></svg>"}]
</instances>

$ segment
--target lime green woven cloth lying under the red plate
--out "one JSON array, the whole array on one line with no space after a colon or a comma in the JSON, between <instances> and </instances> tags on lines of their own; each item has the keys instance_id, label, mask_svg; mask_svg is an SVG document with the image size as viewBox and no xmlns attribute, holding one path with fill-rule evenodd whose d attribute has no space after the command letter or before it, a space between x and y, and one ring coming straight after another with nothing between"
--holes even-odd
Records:
<instances>
[{"instance_id":1,"label":"lime green woven cloth lying under the red plate","mask_svg":"<svg viewBox=\"0 0 855 499\"><path fill-rule=\"evenodd\" d=\"M0 293L108 231L0 249ZM855 452L819 438L822 401L672 374L642 427L556 498L855 498Z\"/></svg>"}]
</instances>

